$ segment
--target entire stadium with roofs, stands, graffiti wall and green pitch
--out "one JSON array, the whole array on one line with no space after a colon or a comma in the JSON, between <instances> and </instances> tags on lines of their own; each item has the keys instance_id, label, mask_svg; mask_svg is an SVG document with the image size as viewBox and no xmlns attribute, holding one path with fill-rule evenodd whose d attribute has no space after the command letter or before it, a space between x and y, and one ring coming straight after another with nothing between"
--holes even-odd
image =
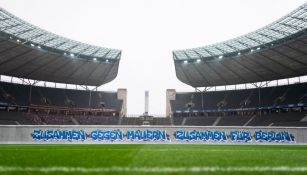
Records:
<instances>
[{"instance_id":1,"label":"entire stadium with roofs, stands, graffiti wall and green pitch","mask_svg":"<svg viewBox=\"0 0 307 175\"><path fill-rule=\"evenodd\" d=\"M306 174L306 46L304 3L245 35L170 50L167 66L194 91L164 89L164 116L145 91L132 116L129 89L99 88L117 78L121 49L0 7L0 173Z\"/></svg>"}]
</instances>

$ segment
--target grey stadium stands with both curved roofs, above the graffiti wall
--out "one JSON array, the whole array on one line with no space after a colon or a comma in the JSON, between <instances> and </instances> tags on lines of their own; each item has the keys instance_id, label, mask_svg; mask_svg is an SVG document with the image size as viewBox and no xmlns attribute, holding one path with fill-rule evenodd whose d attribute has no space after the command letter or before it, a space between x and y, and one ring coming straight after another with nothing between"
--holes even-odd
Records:
<instances>
[{"instance_id":1,"label":"grey stadium stands with both curved roofs, above the graffiti wall","mask_svg":"<svg viewBox=\"0 0 307 175\"><path fill-rule=\"evenodd\" d=\"M125 117L125 89L88 88L116 77L120 50L51 34L1 9L0 74L18 77L26 85L0 83L0 121L8 125L305 126L306 84L267 88L261 84L306 75L306 6L247 35L174 51L178 79L205 91L167 90L167 118ZM40 81L56 82L55 87L71 83L85 91L36 87ZM243 83L256 89L207 92L213 86ZM276 117L283 112L292 113Z\"/></svg>"}]
</instances>

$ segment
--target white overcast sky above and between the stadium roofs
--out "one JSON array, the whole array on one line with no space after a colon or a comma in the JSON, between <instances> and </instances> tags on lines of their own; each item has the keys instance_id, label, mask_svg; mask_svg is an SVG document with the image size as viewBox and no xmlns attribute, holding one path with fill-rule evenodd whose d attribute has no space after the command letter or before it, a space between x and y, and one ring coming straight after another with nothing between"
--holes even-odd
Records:
<instances>
[{"instance_id":1,"label":"white overcast sky above and between the stadium roofs","mask_svg":"<svg viewBox=\"0 0 307 175\"><path fill-rule=\"evenodd\" d=\"M128 90L128 114L165 113L166 89L193 91L175 74L172 50L231 39L263 27L304 0L0 0L40 28L122 50L117 78L100 90Z\"/></svg>"}]
</instances>

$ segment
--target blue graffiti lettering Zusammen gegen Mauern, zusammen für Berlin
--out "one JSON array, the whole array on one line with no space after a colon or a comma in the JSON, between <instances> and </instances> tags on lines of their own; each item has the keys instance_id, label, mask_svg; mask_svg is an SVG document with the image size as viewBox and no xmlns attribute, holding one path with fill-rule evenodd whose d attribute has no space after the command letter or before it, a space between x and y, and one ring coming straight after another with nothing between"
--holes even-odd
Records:
<instances>
[{"instance_id":1,"label":"blue graffiti lettering Zusammen gegen Mauern, zusammen f\u00fcr Berlin","mask_svg":"<svg viewBox=\"0 0 307 175\"><path fill-rule=\"evenodd\" d=\"M173 137L170 137L170 136ZM171 135L166 130L33 130L31 137L35 141L202 141L202 142L295 142L288 131L253 130L176 130Z\"/></svg>"}]
</instances>

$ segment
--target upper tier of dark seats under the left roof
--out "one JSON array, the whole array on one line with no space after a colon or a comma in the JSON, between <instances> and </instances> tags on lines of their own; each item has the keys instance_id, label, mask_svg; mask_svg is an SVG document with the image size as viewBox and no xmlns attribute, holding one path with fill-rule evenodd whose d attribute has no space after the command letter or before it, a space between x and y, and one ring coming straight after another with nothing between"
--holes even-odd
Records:
<instances>
[{"instance_id":1,"label":"upper tier of dark seats under the left roof","mask_svg":"<svg viewBox=\"0 0 307 175\"><path fill-rule=\"evenodd\" d=\"M31 89L31 93L30 93ZM44 105L121 110L116 92L85 91L0 82L0 102L13 105Z\"/></svg>"}]
</instances>

